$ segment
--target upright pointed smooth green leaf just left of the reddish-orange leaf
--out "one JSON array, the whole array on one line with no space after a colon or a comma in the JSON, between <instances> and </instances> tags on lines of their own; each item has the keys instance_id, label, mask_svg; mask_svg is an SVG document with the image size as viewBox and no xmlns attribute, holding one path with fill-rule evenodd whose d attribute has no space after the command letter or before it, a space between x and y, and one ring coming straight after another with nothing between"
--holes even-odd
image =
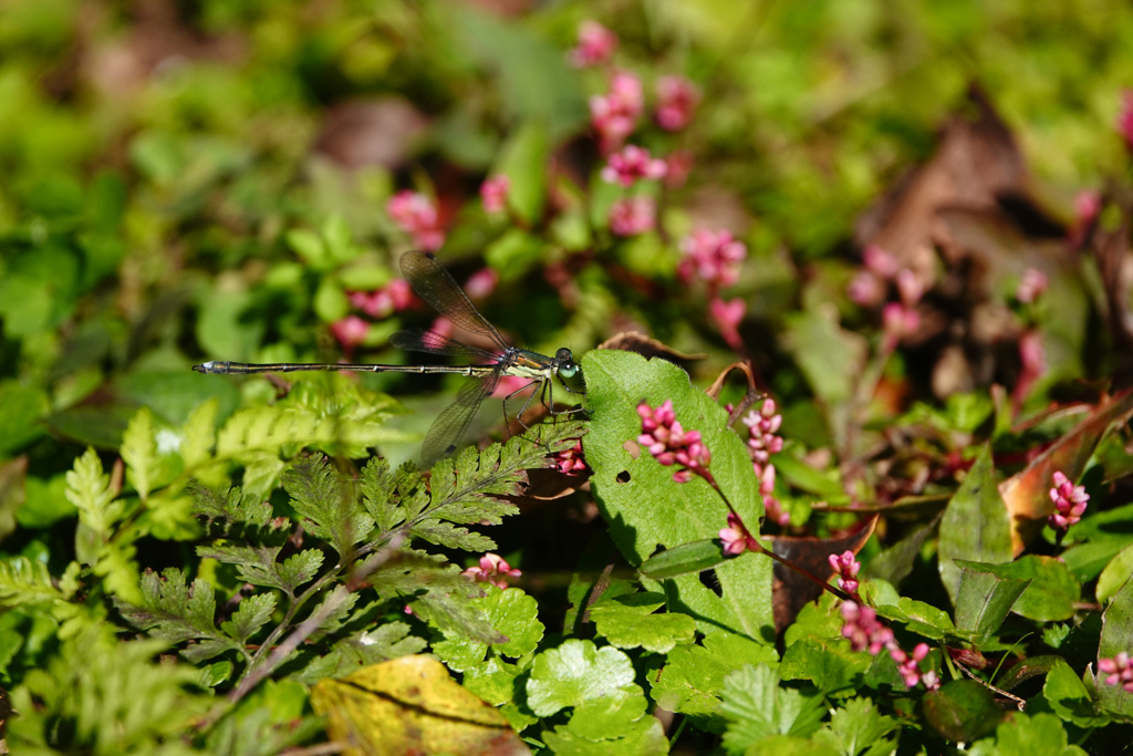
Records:
<instances>
[{"instance_id":1,"label":"upright pointed smooth green leaf just left of the reddish-orange leaf","mask_svg":"<svg viewBox=\"0 0 1133 756\"><path fill-rule=\"evenodd\" d=\"M960 592L957 559L986 564L1010 562L1011 521L996 489L991 449L985 445L952 496L940 520L940 579L953 604Z\"/></svg>"}]
</instances>

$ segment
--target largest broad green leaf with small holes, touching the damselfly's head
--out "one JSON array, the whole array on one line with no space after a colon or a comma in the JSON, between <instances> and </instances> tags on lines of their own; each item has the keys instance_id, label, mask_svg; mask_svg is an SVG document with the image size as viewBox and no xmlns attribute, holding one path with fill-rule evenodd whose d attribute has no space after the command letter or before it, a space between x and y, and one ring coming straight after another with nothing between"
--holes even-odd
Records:
<instances>
[{"instance_id":1,"label":"largest broad green leaf with small holes, touching the damselfly's head","mask_svg":"<svg viewBox=\"0 0 1133 756\"><path fill-rule=\"evenodd\" d=\"M684 428L702 434L721 490L744 523L755 527L763 516L763 498L751 458L739 435L726 427L724 409L693 388L684 371L662 359L647 362L614 350L590 351L582 366L593 416L582 444L595 473L590 481L611 524L610 536L631 564L641 564L659 547L715 538L727 518L724 502L705 481L674 483L673 468L661 466L637 447L641 434L637 406L641 401L653 407L666 399L673 401ZM770 559L743 554L718 566L714 574L722 595L696 575L666 580L670 611L696 618L701 631L726 627L773 642Z\"/></svg>"}]
</instances>

